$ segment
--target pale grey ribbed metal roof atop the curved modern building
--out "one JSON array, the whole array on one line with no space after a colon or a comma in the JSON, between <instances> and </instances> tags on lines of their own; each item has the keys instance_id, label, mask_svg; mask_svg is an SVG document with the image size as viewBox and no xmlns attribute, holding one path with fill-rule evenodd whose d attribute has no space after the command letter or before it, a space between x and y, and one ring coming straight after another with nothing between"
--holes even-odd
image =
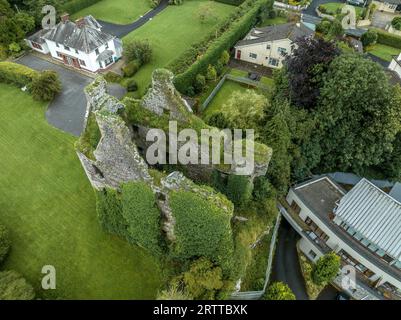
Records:
<instances>
[{"instance_id":1,"label":"pale grey ribbed metal roof atop the curved modern building","mask_svg":"<svg viewBox=\"0 0 401 320\"><path fill-rule=\"evenodd\" d=\"M335 214L364 238L401 258L401 203L362 179L341 200Z\"/></svg>"}]
</instances>

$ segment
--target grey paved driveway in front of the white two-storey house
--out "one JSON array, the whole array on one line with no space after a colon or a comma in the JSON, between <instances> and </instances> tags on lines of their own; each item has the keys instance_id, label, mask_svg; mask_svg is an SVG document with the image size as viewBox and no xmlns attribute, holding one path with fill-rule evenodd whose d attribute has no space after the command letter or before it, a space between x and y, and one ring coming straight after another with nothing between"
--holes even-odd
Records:
<instances>
[{"instance_id":1,"label":"grey paved driveway in front of the white two-storey house","mask_svg":"<svg viewBox=\"0 0 401 320\"><path fill-rule=\"evenodd\" d=\"M62 92L50 102L46 118L54 127L79 136L83 129L86 111L84 88L93 79L33 55L26 55L16 62L35 70L54 70L58 73ZM111 85L108 89L109 93L117 98L121 98L126 92L119 85Z\"/></svg>"}]
</instances>

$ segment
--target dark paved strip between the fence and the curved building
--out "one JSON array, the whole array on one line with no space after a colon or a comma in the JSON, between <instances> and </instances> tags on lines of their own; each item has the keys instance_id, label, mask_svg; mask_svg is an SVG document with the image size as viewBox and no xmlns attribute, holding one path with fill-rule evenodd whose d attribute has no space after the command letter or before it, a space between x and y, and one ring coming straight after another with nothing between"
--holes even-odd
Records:
<instances>
[{"instance_id":1,"label":"dark paved strip between the fence and the curved building","mask_svg":"<svg viewBox=\"0 0 401 320\"><path fill-rule=\"evenodd\" d=\"M287 220L282 219L271 281L282 281L288 284L297 300L308 300L296 249L298 239L296 231Z\"/></svg>"}]
</instances>

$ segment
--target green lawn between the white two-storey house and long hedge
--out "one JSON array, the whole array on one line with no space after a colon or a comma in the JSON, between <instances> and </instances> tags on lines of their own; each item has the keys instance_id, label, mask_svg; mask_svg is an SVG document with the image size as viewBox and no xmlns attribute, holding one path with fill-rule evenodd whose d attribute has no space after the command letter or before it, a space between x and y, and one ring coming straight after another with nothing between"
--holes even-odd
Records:
<instances>
[{"instance_id":1,"label":"green lawn between the white two-storey house and long hedge","mask_svg":"<svg viewBox=\"0 0 401 320\"><path fill-rule=\"evenodd\" d=\"M212 8L216 19L202 23L197 12L206 3ZM138 82L139 94L143 95L150 84L152 71L165 67L192 44L206 37L216 24L227 17L236 7L209 0L185 1L180 6L169 6L152 21L124 37L124 42L134 39L148 39L152 45L152 61L143 66L134 76Z\"/></svg>"}]
</instances>

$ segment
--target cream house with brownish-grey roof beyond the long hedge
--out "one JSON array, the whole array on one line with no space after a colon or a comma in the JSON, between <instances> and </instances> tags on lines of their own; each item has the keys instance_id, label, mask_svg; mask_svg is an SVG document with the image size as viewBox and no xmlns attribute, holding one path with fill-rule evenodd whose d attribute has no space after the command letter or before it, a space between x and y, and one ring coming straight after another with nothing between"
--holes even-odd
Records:
<instances>
[{"instance_id":1,"label":"cream house with brownish-grey roof beyond the long hedge","mask_svg":"<svg viewBox=\"0 0 401 320\"><path fill-rule=\"evenodd\" d=\"M303 23L286 23L253 28L235 45L235 58L272 68L281 68L297 38L310 37L313 31Z\"/></svg>"}]
</instances>

